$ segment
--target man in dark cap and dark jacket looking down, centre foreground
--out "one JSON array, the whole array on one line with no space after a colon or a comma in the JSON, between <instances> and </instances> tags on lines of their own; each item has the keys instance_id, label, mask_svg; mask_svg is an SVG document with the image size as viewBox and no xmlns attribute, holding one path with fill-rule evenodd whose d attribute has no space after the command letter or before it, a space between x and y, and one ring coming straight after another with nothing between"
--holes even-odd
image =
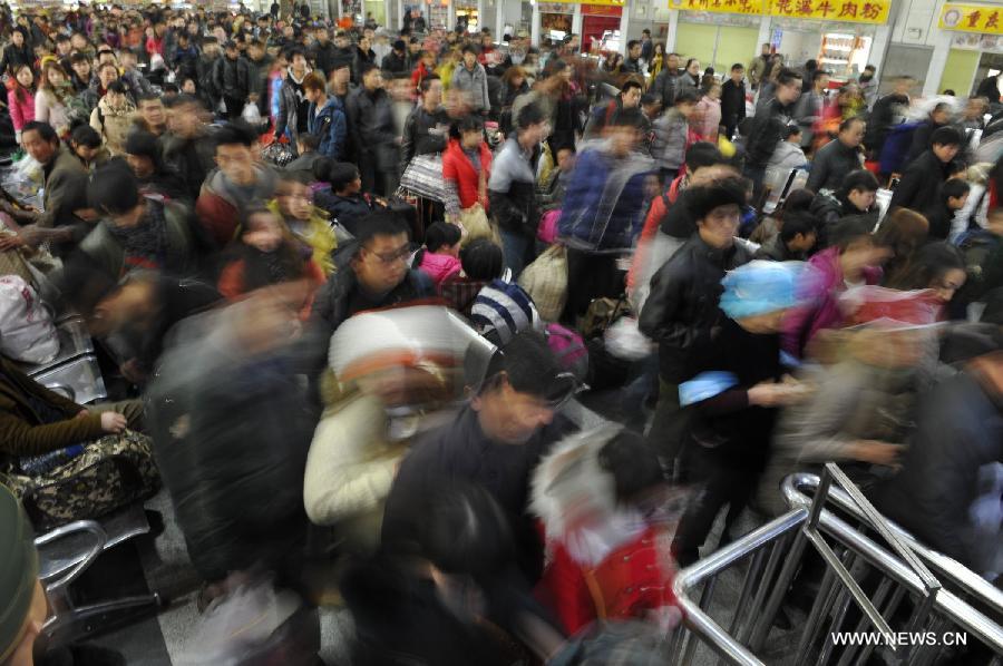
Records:
<instances>
[{"instance_id":1,"label":"man in dark cap and dark jacket looking down, centre foreground","mask_svg":"<svg viewBox=\"0 0 1003 666\"><path fill-rule=\"evenodd\" d=\"M467 352L467 370L484 366L476 354ZM526 512L529 477L551 445L575 430L558 410L580 384L534 331L496 350L484 372L468 373L468 384L470 402L401 463L383 515L383 547L413 552L431 490L462 480L498 501L513 528L519 568L533 581L543 568L543 547Z\"/></svg>"}]
</instances>

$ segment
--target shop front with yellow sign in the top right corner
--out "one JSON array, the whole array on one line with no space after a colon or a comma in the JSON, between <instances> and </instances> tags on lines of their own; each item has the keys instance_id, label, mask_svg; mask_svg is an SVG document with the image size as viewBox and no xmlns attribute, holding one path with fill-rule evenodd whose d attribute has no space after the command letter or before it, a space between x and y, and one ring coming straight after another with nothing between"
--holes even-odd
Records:
<instances>
[{"instance_id":1,"label":"shop front with yellow sign in the top right corner","mask_svg":"<svg viewBox=\"0 0 1003 666\"><path fill-rule=\"evenodd\" d=\"M1003 71L1003 7L1000 3L947 2L938 26L952 32L951 50L937 92L960 97L975 92L987 77Z\"/></svg>"}]
</instances>

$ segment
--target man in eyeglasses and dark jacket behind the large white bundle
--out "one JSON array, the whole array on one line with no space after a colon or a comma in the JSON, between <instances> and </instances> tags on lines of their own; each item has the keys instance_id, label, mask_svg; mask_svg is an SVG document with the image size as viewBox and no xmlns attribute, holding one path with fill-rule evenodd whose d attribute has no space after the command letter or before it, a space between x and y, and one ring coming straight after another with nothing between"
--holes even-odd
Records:
<instances>
[{"instance_id":1,"label":"man in eyeglasses and dark jacket behind the large white bundle","mask_svg":"<svg viewBox=\"0 0 1003 666\"><path fill-rule=\"evenodd\" d=\"M347 265L335 261L338 270L313 302L310 319L318 368L324 364L331 335L348 317L436 295L431 280L408 266L408 228L396 213L381 210L360 219L356 243L347 252Z\"/></svg>"}]
</instances>

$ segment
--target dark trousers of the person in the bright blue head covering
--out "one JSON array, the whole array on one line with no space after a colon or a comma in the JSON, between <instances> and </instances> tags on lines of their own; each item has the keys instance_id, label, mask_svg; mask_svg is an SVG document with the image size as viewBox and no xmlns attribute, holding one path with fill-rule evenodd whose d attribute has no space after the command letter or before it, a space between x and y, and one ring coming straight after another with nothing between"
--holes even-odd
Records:
<instances>
[{"instance_id":1,"label":"dark trousers of the person in the bright blue head covering","mask_svg":"<svg viewBox=\"0 0 1003 666\"><path fill-rule=\"evenodd\" d=\"M759 474L753 470L724 464L724 457L713 449L692 444L686 458L686 467L694 480L702 480L703 483L686 507L672 541L672 552L680 567L688 567L699 559L698 549L724 507L728 507L728 516L720 545L731 540L731 526L738 520L759 481Z\"/></svg>"}]
</instances>

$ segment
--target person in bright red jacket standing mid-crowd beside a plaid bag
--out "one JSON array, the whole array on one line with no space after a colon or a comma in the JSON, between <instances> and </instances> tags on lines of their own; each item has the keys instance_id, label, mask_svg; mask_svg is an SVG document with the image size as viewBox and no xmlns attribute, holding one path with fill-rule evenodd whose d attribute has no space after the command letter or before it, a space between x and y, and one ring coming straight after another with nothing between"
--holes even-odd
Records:
<instances>
[{"instance_id":1,"label":"person in bright red jacket standing mid-crowd beside a plaid bag","mask_svg":"<svg viewBox=\"0 0 1003 666\"><path fill-rule=\"evenodd\" d=\"M491 151L484 143L484 121L477 116L459 120L451 134L442 154L442 178L447 219L458 222L462 213L477 205L487 210Z\"/></svg>"}]
</instances>

